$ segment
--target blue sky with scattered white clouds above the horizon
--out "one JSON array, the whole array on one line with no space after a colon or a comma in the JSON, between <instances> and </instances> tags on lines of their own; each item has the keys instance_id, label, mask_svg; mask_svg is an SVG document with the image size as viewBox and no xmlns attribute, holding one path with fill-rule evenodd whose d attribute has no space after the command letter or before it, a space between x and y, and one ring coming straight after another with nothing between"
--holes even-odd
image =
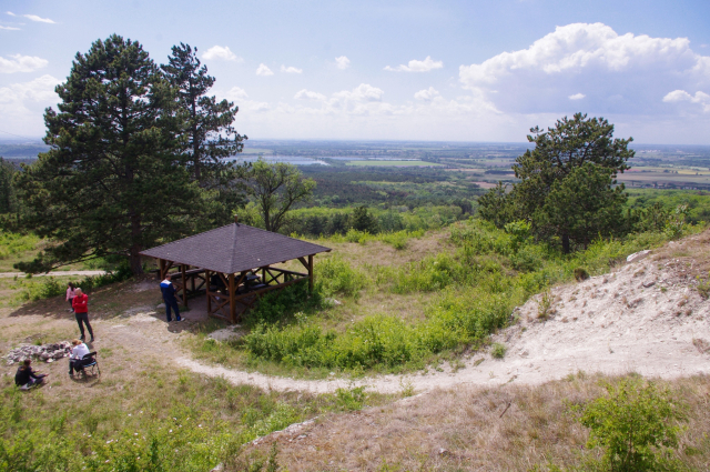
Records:
<instances>
[{"instance_id":1,"label":"blue sky with scattered white clouds above the horizon","mask_svg":"<svg viewBox=\"0 0 710 472\"><path fill-rule=\"evenodd\" d=\"M524 142L584 112L710 144L710 1L0 2L0 139L44 134L77 53L180 42L250 139Z\"/></svg>"}]
</instances>

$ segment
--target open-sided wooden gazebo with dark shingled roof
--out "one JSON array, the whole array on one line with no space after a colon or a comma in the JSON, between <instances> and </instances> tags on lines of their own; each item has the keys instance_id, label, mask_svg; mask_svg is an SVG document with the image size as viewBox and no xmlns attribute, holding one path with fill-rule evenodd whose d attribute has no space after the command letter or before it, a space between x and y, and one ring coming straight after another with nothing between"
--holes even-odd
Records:
<instances>
[{"instance_id":1,"label":"open-sided wooden gazebo with dark shingled roof","mask_svg":"<svg viewBox=\"0 0 710 472\"><path fill-rule=\"evenodd\" d=\"M158 260L159 277L173 281L185 307L204 293L211 317L236 323L265 292L305 280L313 290L313 257L329 251L235 221L141 254ZM305 273L273 267L291 260L298 260Z\"/></svg>"}]
</instances>

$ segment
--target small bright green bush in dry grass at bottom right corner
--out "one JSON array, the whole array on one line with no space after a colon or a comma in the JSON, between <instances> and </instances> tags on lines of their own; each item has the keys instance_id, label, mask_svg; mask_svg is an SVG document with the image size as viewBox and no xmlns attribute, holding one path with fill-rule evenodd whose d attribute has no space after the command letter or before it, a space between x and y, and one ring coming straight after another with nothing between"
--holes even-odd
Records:
<instances>
[{"instance_id":1,"label":"small bright green bush in dry grass at bottom right corner","mask_svg":"<svg viewBox=\"0 0 710 472\"><path fill-rule=\"evenodd\" d=\"M588 448L604 448L601 465L615 472L672 470L682 404L668 389L628 378L606 384L607 395L581 409L579 421L590 429Z\"/></svg>"}]
</instances>

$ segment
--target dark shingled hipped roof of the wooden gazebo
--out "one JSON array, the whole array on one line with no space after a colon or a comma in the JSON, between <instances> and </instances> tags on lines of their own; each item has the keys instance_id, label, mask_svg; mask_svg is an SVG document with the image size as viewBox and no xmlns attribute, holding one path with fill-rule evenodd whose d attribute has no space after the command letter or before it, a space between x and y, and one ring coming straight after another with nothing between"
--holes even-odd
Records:
<instances>
[{"instance_id":1,"label":"dark shingled hipped roof of the wooden gazebo","mask_svg":"<svg viewBox=\"0 0 710 472\"><path fill-rule=\"evenodd\" d=\"M331 249L246 224L232 223L141 252L222 273L236 273Z\"/></svg>"}]
</instances>

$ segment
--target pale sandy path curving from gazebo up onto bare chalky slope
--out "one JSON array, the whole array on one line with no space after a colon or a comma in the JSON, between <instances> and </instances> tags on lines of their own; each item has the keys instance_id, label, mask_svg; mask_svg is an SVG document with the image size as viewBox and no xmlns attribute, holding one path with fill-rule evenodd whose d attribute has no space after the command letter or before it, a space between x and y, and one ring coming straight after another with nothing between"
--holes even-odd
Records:
<instances>
[{"instance_id":1,"label":"pale sandy path curving from gazebo up onto bare chalky slope","mask_svg":"<svg viewBox=\"0 0 710 472\"><path fill-rule=\"evenodd\" d=\"M708 247L708 241L694 242ZM692 244L691 241L689 245ZM676 249L682 249L682 244ZM697 253L693 249L689 252ZM156 355L205 375L224 376L235 384L280 391L324 393L367 385L396 393L403 389L426 392L459 384L539 384L579 370L607 374L633 371L667 379L710 374L710 303L696 290L693 262L688 262L692 260L671 255L648 257L610 274L552 289L547 320L538 319L540 295L532 298L516 309L519 322L494 338L507 348L504 359L478 353L464 360L458 370L446 365L414 374L349 381L296 380L209 365L191 359L180 348L180 337L192 335L186 330L190 321L165 323L153 307L138 307L124 318L98 321L97 331L101 333L99 339L109 344ZM702 270L707 273L706 268ZM136 288L154 289L151 283L143 285ZM185 318L199 315L200 308L193 307Z\"/></svg>"}]
</instances>

